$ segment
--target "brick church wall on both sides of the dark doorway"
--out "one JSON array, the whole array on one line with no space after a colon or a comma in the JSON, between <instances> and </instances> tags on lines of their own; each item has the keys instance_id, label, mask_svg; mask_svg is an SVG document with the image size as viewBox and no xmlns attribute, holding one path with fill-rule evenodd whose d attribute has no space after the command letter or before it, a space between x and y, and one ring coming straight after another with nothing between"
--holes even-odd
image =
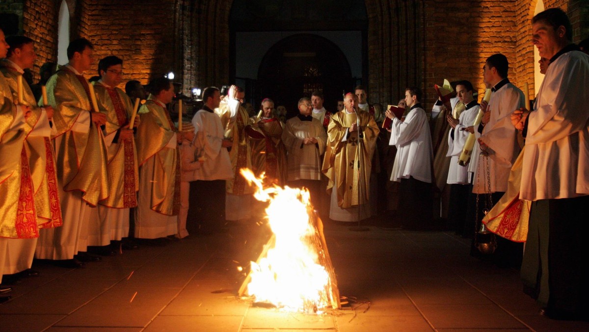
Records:
<instances>
[{"instance_id":1,"label":"brick church wall on both sides of the dark doorway","mask_svg":"<svg viewBox=\"0 0 589 332\"><path fill-rule=\"evenodd\" d=\"M518 86L533 87L530 42L539 0L366 0L368 89L370 101L396 103L406 86L425 92L426 108L435 100L434 84L444 78L471 80L482 92L482 65L495 52L511 64ZM232 0L67 0L71 38L95 45L95 60L117 55L125 61L125 80L147 83L173 70L184 93L194 86L230 83L229 12ZM59 0L3 0L0 12L21 17L21 31L37 44L35 73L57 58ZM585 0L545 0L560 6L573 22L574 41L589 34ZM253 45L255 47L255 45ZM95 65L97 67L97 65ZM90 75L94 75L94 70Z\"/></svg>"}]
</instances>

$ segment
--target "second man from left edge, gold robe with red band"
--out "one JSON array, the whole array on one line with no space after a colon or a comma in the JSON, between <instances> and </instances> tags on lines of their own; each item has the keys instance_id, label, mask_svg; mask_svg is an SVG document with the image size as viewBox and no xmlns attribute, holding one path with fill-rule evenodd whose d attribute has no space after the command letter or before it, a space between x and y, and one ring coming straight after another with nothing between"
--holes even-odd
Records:
<instances>
[{"instance_id":1,"label":"second man from left edge, gold robe with red band","mask_svg":"<svg viewBox=\"0 0 589 332\"><path fill-rule=\"evenodd\" d=\"M37 223L39 228L61 226L55 155L51 144L51 136L55 130L49 122L54 110L51 106L37 107L31 87L22 78L24 69L31 69L37 57L33 40L15 35L6 38L6 42L11 48L6 58L0 61L0 71L6 78L13 100L19 99L18 81L21 81L22 104L31 109L31 116L25 122L27 137L24 150L33 183ZM38 275L38 272L30 270L36 246L37 237L8 241L4 274L19 273L14 277Z\"/></svg>"}]
</instances>

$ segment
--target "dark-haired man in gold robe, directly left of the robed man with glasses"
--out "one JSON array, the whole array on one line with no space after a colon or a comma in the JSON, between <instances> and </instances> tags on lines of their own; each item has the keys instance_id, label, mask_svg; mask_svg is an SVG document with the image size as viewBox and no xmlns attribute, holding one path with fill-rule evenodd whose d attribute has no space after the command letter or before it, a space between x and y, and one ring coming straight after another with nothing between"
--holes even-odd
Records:
<instances>
[{"instance_id":1,"label":"dark-haired man in gold robe, directly left of the robed man with glasses","mask_svg":"<svg viewBox=\"0 0 589 332\"><path fill-rule=\"evenodd\" d=\"M106 147L101 126L105 114L92 107L91 88L82 75L93 58L90 41L79 38L68 46L67 65L60 66L47 82L48 104L55 114L54 139L57 181L64 225L41 230L35 256L55 264L80 267L74 255L87 250L88 215L108 197ZM80 259L95 260L87 255Z\"/></svg>"}]
</instances>

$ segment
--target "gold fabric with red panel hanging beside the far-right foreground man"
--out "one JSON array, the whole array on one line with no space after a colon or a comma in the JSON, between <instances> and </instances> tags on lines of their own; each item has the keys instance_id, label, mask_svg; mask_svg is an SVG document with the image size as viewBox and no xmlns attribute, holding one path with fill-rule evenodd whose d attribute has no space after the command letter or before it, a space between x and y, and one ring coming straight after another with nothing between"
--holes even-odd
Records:
<instances>
[{"instance_id":1,"label":"gold fabric with red panel hanging beside the far-right foreground man","mask_svg":"<svg viewBox=\"0 0 589 332\"><path fill-rule=\"evenodd\" d=\"M525 146L511 167L507 192L482 219L489 231L514 242L526 241L530 222L531 202L519 199L524 150Z\"/></svg>"}]
</instances>

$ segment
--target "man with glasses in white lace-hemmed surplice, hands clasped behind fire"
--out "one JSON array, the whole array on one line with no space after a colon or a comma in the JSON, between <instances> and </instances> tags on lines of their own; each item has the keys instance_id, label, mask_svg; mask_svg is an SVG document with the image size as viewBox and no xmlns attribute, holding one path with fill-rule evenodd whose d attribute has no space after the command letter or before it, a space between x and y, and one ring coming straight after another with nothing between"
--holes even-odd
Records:
<instances>
[{"instance_id":1,"label":"man with glasses in white lace-hemmed surplice, hands clasped behind fire","mask_svg":"<svg viewBox=\"0 0 589 332\"><path fill-rule=\"evenodd\" d=\"M299 114L286 121L282 142L287 150L288 185L306 187L311 193L313 206L319 207L324 188L321 184L322 156L325 153L327 134L322 122L311 114L313 104L307 97L299 100ZM320 215L326 211L319 211Z\"/></svg>"}]
</instances>

